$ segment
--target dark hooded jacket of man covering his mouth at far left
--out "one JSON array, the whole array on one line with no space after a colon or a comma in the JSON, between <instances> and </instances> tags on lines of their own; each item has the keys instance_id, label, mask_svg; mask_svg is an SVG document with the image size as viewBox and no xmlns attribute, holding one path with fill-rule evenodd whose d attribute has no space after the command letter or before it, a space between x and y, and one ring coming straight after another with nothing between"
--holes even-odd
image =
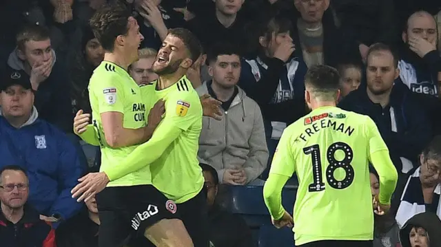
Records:
<instances>
[{"instance_id":1,"label":"dark hooded jacket of man covering his mouth at far left","mask_svg":"<svg viewBox=\"0 0 441 247\"><path fill-rule=\"evenodd\" d=\"M52 56L54 57L52 72L46 80L40 83L37 92L35 92L34 105L39 111L40 118L65 132L72 132L72 103L68 73L61 62L57 62L57 56L53 50ZM8 66L12 69L25 71L25 64L19 58L17 49L9 55Z\"/></svg>"}]
</instances>

